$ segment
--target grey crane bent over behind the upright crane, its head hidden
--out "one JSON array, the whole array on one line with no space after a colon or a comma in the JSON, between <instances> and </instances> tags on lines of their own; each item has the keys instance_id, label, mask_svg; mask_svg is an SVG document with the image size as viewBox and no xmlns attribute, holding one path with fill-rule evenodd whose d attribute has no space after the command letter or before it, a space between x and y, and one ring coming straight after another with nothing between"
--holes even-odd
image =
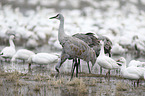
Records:
<instances>
[{"instance_id":1,"label":"grey crane bent over behind the upright crane, its head hidden","mask_svg":"<svg viewBox=\"0 0 145 96\"><path fill-rule=\"evenodd\" d=\"M100 40L104 41L104 50L105 54L109 54L109 57L111 57L111 48L112 48L112 42L109 38L105 36L98 35L98 37L94 36L94 33L86 33L86 34L74 34L73 37L79 38L86 42L90 47L92 47L96 53L96 57L99 56L101 45ZM80 62L80 60L78 59ZM80 63L78 62L78 65L80 67ZM74 68L74 67L73 67ZM100 68L100 73L102 73L102 68Z\"/></svg>"}]
</instances>

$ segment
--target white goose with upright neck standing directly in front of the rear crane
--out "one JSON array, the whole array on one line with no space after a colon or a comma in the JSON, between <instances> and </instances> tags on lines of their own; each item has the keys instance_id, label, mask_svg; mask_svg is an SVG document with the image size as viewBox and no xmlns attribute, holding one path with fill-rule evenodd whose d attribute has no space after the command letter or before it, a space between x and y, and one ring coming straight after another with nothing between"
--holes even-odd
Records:
<instances>
[{"instance_id":1,"label":"white goose with upright neck standing directly in front of the rear crane","mask_svg":"<svg viewBox=\"0 0 145 96\"><path fill-rule=\"evenodd\" d=\"M112 58L105 55L104 42L101 41L100 43L102 44L102 46L101 46L100 54L97 58L97 63L100 65L100 67L108 69L108 72L106 73L106 75L109 74L109 77L110 77L110 70L118 69L118 68L120 68L120 66L117 64L117 62L115 60L113 60Z\"/></svg>"}]
</instances>

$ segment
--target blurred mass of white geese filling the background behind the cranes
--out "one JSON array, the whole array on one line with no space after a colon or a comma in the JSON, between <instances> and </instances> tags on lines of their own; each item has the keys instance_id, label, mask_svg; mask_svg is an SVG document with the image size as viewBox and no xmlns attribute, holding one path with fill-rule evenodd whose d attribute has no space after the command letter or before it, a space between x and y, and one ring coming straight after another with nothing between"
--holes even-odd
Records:
<instances>
[{"instance_id":1,"label":"blurred mass of white geese filling the background behind the cranes","mask_svg":"<svg viewBox=\"0 0 145 96\"><path fill-rule=\"evenodd\" d=\"M0 0L0 44L7 45L9 35L15 34L17 46L36 49L49 44L61 50L59 23L49 17L62 13L69 35L92 32L134 49L135 37L145 42L144 4L144 0Z\"/></svg>"}]
</instances>

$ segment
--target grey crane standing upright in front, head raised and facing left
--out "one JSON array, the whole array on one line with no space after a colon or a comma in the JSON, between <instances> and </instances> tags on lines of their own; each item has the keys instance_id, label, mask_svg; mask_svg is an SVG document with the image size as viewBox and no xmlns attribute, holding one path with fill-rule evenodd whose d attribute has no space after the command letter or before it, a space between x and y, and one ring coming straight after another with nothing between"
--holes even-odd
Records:
<instances>
[{"instance_id":1,"label":"grey crane standing upright in front, head raised and facing left","mask_svg":"<svg viewBox=\"0 0 145 96\"><path fill-rule=\"evenodd\" d=\"M58 30L58 40L62 46L61 59L55 66L56 71L59 73L59 68L67 59L83 59L87 62L89 67L89 61L92 63L92 67L96 62L95 51L88 46L84 41L68 36L64 32L64 17L62 14L58 14L50 19L60 20L59 30ZM90 71L90 68L89 68Z\"/></svg>"}]
</instances>

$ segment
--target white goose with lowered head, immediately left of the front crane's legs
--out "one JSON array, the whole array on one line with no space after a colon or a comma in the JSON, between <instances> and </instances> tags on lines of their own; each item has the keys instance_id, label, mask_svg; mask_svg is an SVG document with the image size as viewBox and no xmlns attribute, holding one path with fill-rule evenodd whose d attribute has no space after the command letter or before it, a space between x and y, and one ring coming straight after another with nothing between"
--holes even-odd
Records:
<instances>
[{"instance_id":1,"label":"white goose with lowered head, immediately left of the front crane's legs","mask_svg":"<svg viewBox=\"0 0 145 96\"><path fill-rule=\"evenodd\" d=\"M37 53L35 55L31 55L28 58L29 67L31 67L32 63L39 65L48 65L50 63L54 63L58 61L59 56L56 54L50 53Z\"/></svg>"}]
</instances>

